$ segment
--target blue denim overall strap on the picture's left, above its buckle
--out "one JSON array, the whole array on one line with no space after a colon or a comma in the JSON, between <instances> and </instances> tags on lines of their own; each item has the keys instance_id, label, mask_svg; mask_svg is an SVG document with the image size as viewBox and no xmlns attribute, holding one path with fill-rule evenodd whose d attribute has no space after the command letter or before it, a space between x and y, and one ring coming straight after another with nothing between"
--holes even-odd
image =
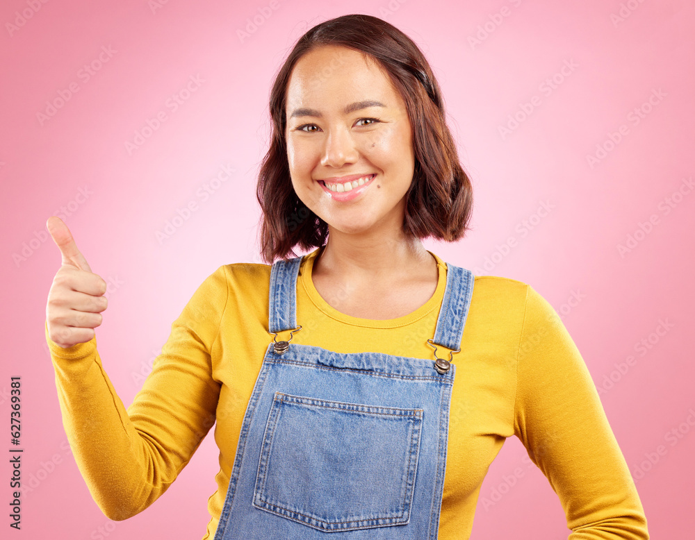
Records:
<instances>
[{"instance_id":1,"label":"blue denim overall strap on the picture's left, above its buckle","mask_svg":"<svg viewBox=\"0 0 695 540\"><path fill-rule=\"evenodd\" d=\"M297 328L297 276L301 263L300 256L289 260L277 260L270 267L270 332Z\"/></svg>"}]
</instances>

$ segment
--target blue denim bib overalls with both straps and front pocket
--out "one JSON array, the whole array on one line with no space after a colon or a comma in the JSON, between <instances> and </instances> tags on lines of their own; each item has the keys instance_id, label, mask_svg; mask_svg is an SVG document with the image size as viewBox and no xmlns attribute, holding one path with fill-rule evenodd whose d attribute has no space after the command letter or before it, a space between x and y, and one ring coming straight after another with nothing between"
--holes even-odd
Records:
<instances>
[{"instance_id":1,"label":"blue denim bib overalls with both straps and front pocket","mask_svg":"<svg viewBox=\"0 0 695 540\"><path fill-rule=\"evenodd\" d=\"M450 349L449 360L460 350L473 274L447 264L427 339L433 361L276 341L277 332L301 328L301 262L279 260L270 270L273 342L244 415L215 540L434 540L456 371L434 345Z\"/></svg>"}]
</instances>

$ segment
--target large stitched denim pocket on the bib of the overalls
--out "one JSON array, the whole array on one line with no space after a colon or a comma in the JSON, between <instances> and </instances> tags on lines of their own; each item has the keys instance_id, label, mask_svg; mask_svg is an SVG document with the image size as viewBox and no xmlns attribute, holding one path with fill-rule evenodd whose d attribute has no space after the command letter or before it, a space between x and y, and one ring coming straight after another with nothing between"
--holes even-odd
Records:
<instances>
[{"instance_id":1,"label":"large stitched denim pocket on the bib of the overalls","mask_svg":"<svg viewBox=\"0 0 695 540\"><path fill-rule=\"evenodd\" d=\"M410 519L422 409L276 392L254 506L325 532Z\"/></svg>"}]
</instances>

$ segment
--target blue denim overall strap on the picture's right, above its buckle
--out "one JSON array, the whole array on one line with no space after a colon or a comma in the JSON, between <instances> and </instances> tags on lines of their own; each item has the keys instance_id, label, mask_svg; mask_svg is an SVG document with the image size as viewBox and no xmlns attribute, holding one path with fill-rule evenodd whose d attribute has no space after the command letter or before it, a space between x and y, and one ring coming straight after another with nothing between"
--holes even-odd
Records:
<instances>
[{"instance_id":1,"label":"blue denim overall strap on the picture's right, above its buckle","mask_svg":"<svg viewBox=\"0 0 695 540\"><path fill-rule=\"evenodd\" d=\"M446 263L446 287L432 339L434 344L459 350L468 307L471 307L474 280L470 270Z\"/></svg>"}]
</instances>

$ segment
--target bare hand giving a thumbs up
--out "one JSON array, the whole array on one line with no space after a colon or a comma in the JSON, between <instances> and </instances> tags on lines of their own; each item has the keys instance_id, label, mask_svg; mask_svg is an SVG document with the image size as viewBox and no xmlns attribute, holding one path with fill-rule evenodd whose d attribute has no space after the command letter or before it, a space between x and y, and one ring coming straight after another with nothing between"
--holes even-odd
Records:
<instances>
[{"instance_id":1,"label":"bare hand giving a thumbs up","mask_svg":"<svg viewBox=\"0 0 695 540\"><path fill-rule=\"evenodd\" d=\"M51 216L46 227L63 257L48 294L46 322L51 340L67 348L90 341L101 325L106 281L92 273L62 219Z\"/></svg>"}]
</instances>

